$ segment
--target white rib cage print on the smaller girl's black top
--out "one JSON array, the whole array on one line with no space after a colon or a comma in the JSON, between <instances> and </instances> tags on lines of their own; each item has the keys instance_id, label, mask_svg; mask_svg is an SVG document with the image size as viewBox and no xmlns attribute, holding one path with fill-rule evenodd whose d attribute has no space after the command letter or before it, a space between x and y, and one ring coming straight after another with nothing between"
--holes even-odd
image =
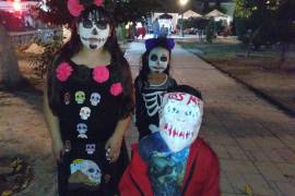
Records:
<instances>
[{"instance_id":1,"label":"white rib cage print on the smaller girl's black top","mask_svg":"<svg viewBox=\"0 0 295 196\"><path fill-rule=\"evenodd\" d=\"M142 94L148 114L153 117L161 108L163 94L165 91L153 91L151 94Z\"/></svg>"}]
</instances>

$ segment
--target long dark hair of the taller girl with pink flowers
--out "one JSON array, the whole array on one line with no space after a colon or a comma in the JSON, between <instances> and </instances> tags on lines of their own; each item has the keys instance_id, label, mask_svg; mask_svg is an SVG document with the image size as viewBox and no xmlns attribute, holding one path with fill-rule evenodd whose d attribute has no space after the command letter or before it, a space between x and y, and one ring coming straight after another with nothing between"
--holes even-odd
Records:
<instances>
[{"instance_id":1,"label":"long dark hair of the taller girl with pink flowers","mask_svg":"<svg viewBox=\"0 0 295 196\"><path fill-rule=\"evenodd\" d=\"M70 40L57 52L54 63L48 69L47 84L48 84L48 101L49 107L54 114L59 114L60 106L60 85L56 78L57 65L71 59L82 48L80 36L76 32L76 23L83 19L88 19L90 14L98 16L99 20L104 20L110 26L110 36L108 37L104 49L107 50L111 56L111 63L115 63L115 71L111 74L111 79L121 82L122 84L122 109L120 117L126 118L133 111L133 99L132 99L132 76L130 66L127 60L123 58L122 51L118 45L116 37L116 25L109 13L102 7L91 5L86 8L79 17L74 19L72 24L72 36Z\"/></svg>"}]
</instances>

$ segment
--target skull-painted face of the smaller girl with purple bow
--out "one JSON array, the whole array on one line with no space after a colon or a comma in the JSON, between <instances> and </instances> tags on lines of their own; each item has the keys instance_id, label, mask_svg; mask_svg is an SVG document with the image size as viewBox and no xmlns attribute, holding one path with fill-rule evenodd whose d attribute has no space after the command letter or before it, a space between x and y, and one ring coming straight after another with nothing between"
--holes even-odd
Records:
<instances>
[{"instance_id":1,"label":"skull-painted face of the smaller girl with purple bow","mask_svg":"<svg viewBox=\"0 0 295 196\"><path fill-rule=\"evenodd\" d=\"M169 60L169 51L156 47L149 54L149 68L151 72L163 73L167 69Z\"/></svg>"}]
</instances>

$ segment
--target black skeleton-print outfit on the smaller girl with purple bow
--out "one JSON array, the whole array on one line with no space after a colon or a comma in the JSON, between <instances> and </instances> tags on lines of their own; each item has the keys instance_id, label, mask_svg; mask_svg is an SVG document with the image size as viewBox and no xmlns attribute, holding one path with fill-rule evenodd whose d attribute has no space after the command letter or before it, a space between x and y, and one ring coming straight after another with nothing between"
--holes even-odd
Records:
<instances>
[{"instance_id":1,"label":"black skeleton-print outfit on the smaller girl with purple bow","mask_svg":"<svg viewBox=\"0 0 295 196\"><path fill-rule=\"evenodd\" d=\"M170 76L164 83L151 85L149 82L137 77L135 86L135 125L139 130L139 139L157 132L158 110L161 108L163 95L177 86Z\"/></svg>"}]
</instances>

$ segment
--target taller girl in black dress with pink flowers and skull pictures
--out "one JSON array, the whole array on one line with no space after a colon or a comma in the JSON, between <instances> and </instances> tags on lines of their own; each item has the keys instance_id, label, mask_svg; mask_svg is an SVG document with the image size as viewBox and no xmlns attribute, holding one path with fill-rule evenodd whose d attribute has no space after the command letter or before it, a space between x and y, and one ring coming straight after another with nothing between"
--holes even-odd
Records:
<instances>
[{"instance_id":1,"label":"taller girl in black dress with pink flowers and skull pictures","mask_svg":"<svg viewBox=\"0 0 295 196\"><path fill-rule=\"evenodd\" d=\"M48 71L45 115L61 196L116 195L128 163L123 134L133 110L132 78L102 1L69 0L70 41Z\"/></svg>"}]
</instances>

